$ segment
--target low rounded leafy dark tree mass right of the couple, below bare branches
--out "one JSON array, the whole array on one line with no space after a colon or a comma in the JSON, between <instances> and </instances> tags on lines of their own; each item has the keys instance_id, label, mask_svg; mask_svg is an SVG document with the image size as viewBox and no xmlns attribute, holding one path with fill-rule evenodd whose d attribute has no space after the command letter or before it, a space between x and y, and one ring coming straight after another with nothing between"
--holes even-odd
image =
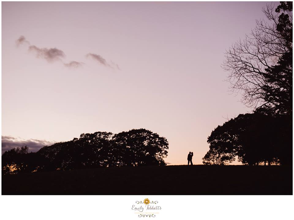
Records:
<instances>
[{"instance_id":1,"label":"low rounded leafy dark tree mass right of the couple, below bare branches","mask_svg":"<svg viewBox=\"0 0 294 220\"><path fill-rule=\"evenodd\" d=\"M223 165L238 156L238 161L248 165L290 164L292 129L285 127L286 119L258 112L240 114L213 130L203 163Z\"/></svg>"}]
</instances>

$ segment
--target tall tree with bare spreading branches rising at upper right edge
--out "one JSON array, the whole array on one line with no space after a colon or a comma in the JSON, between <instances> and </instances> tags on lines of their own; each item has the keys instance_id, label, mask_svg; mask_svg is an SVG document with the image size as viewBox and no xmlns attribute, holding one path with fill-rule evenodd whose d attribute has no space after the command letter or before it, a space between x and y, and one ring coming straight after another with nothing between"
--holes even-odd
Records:
<instances>
[{"instance_id":1,"label":"tall tree with bare spreading branches rising at upper right edge","mask_svg":"<svg viewBox=\"0 0 294 220\"><path fill-rule=\"evenodd\" d=\"M292 115L292 2L281 2L275 11L267 5L263 12L269 23L256 21L251 35L226 52L223 68L247 106Z\"/></svg>"}]
</instances>

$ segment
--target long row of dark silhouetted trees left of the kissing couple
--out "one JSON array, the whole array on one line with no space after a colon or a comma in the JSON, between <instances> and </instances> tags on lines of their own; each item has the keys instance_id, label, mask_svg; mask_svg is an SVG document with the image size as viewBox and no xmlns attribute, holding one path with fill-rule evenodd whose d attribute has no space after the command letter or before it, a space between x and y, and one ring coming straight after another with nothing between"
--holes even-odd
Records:
<instances>
[{"instance_id":1,"label":"long row of dark silhouetted trees left of the kissing couple","mask_svg":"<svg viewBox=\"0 0 294 220\"><path fill-rule=\"evenodd\" d=\"M166 165L168 141L146 129L83 133L80 138L28 153L13 148L2 155L2 173L41 172L113 166Z\"/></svg>"}]
</instances>

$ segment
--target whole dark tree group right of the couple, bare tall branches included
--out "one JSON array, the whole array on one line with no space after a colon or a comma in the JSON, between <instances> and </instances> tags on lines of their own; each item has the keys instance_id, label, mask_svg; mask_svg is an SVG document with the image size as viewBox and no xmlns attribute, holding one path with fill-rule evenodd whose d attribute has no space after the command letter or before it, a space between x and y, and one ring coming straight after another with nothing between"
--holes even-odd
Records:
<instances>
[{"instance_id":1,"label":"whole dark tree group right of the couple, bare tall branches included","mask_svg":"<svg viewBox=\"0 0 294 220\"><path fill-rule=\"evenodd\" d=\"M239 114L208 137L204 164L292 164L292 2L263 9L251 35L226 51L223 69L232 92L242 94L251 114Z\"/></svg>"}]
</instances>

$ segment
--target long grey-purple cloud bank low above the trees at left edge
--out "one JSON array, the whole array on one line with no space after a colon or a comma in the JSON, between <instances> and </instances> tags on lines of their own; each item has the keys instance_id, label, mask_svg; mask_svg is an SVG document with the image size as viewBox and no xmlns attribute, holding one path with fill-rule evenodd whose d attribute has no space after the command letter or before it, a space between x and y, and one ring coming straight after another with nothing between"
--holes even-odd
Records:
<instances>
[{"instance_id":1,"label":"long grey-purple cloud bank low above the trees at left edge","mask_svg":"<svg viewBox=\"0 0 294 220\"><path fill-rule=\"evenodd\" d=\"M21 140L16 137L12 136L2 136L2 154L5 151L9 151L10 149L13 149L13 147L22 147L22 146L28 146L28 151L36 152L41 147L52 145L53 142L46 141L46 140L37 140L37 139L29 139L29 140Z\"/></svg>"}]
</instances>

